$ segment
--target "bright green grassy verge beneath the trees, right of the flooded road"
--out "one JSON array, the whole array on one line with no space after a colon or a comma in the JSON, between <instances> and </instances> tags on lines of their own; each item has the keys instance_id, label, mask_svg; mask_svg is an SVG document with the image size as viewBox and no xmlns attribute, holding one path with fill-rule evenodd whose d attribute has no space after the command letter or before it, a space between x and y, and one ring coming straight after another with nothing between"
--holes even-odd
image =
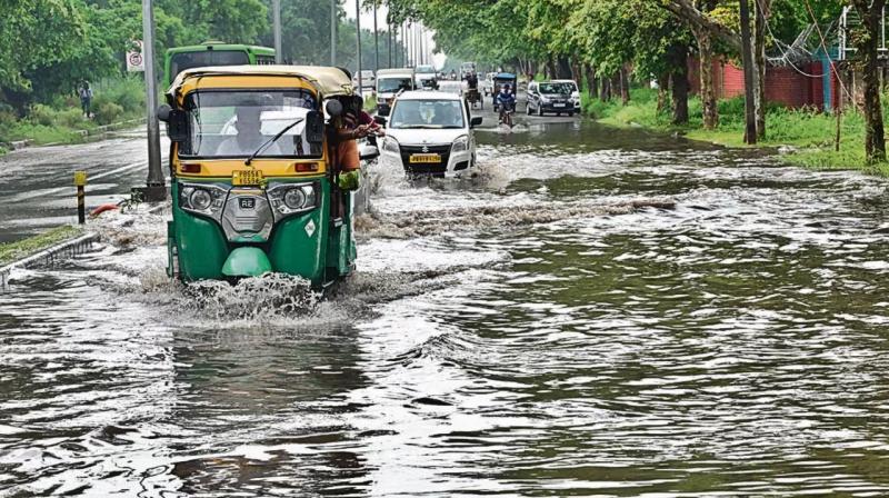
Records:
<instances>
[{"instance_id":1,"label":"bright green grassy verge beneath the trees, right of the flooded road","mask_svg":"<svg viewBox=\"0 0 889 498\"><path fill-rule=\"evenodd\" d=\"M701 103L689 100L690 122L675 126L669 111L657 111L657 91L635 89L630 103L621 106L619 100L601 102L583 96L585 112L606 124L679 132L692 140L720 143L727 147L750 147L743 143L743 98L719 102L719 126L705 130L701 121ZM766 139L755 147L789 146L791 152L782 158L788 162L817 169L859 169L889 176L889 165L869 166L865 162L865 121L858 112L842 116L840 150L835 151L836 117L813 110L791 110L771 106L766 116Z\"/></svg>"}]
</instances>

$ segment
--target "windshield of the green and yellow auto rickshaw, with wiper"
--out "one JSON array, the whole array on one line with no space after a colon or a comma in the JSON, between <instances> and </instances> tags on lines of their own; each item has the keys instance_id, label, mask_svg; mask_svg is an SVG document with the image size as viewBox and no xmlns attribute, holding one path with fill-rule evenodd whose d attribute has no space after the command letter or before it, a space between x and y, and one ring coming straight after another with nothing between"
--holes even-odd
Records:
<instances>
[{"instance_id":1,"label":"windshield of the green and yellow auto rickshaw, with wiper","mask_svg":"<svg viewBox=\"0 0 889 498\"><path fill-rule=\"evenodd\" d=\"M317 110L306 90L198 91L186 98L189 141L180 156L196 158L249 157L294 121L303 120L269 145L259 157L317 157L320 143L306 138L304 119Z\"/></svg>"}]
</instances>

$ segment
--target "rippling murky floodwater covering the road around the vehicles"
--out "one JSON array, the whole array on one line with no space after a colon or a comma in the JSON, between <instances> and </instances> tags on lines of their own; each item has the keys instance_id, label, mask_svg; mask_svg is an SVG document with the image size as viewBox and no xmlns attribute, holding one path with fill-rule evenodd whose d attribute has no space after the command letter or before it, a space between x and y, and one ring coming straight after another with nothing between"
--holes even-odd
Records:
<instances>
[{"instance_id":1,"label":"rippling murky floodwater covering the road around the vehicles","mask_svg":"<svg viewBox=\"0 0 889 498\"><path fill-rule=\"evenodd\" d=\"M183 291L163 218L0 296L2 496L887 496L882 179L581 122L378 171L360 271Z\"/></svg>"}]
</instances>

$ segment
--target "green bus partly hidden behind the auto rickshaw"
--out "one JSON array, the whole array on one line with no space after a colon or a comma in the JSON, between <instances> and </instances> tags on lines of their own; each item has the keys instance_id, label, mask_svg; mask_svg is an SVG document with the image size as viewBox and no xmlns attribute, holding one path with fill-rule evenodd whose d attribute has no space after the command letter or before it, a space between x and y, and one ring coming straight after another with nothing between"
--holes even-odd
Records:
<instances>
[{"instance_id":1,"label":"green bus partly hidden behind the auto rickshaw","mask_svg":"<svg viewBox=\"0 0 889 498\"><path fill-rule=\"evenodd\" d=\"M202 44L168 49L163 57L163 88L170 88L180 72L208 66L268 66L274 63L274 49L250 44L207 41Z\"/></svg>"}]
</instances>

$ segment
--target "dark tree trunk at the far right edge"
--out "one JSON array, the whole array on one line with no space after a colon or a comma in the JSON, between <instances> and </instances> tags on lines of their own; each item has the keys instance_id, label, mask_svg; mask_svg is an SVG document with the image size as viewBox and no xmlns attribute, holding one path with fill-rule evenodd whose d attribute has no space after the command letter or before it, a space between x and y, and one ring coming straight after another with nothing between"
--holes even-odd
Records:
<instances>
[{"instance_id":1,"label":"dark tree trunk at the far right edge","mask_svg":"<svg viewBox=\"0 0 889 498\"><path fill-rule=\"evenodd\" d=\"M880 77L877 49L879 47L880 20L886 0L853 0L861 17L862 31L856 38L856 48L861 57L861 82L865 93L865 156L868 162L886 160L886 136L880 109ZM870 6L868 6L870 3Z\"/></svg>"}]
</instances>

